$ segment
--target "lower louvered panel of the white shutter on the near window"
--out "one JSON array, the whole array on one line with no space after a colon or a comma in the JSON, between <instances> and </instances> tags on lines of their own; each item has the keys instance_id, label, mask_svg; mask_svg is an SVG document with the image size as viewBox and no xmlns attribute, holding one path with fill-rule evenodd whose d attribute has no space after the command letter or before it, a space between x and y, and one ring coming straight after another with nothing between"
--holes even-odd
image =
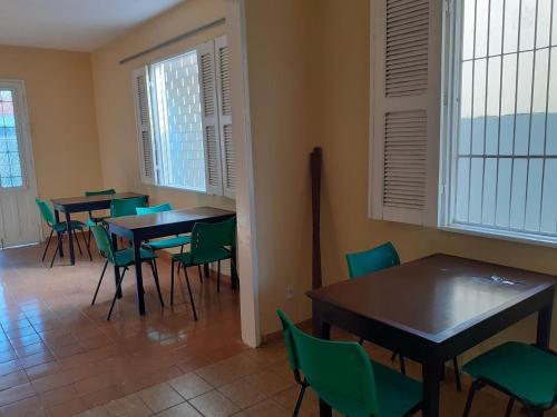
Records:
<instances>
[{"instance_id":1,"label":"lower louvered panel of the white shutter on the near window","mask_svg":"<svg viewBox=\"0 0 557 417\"><path fill-rule=\"evenodd\" d=\"M383 205L423 209L426 199L426 111L385 115Z\"/></svg>"}]
</instances>

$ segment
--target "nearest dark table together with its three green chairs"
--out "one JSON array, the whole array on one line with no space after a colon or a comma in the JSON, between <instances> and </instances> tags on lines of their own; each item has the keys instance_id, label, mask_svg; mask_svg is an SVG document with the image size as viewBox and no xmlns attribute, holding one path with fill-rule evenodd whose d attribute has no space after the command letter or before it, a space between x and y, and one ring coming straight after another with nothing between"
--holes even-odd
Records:
<instances>
[{"instance_id":1,"label":"nearest dark table together with its three green chairs","mask_svg":"<svg viewBox=\"0 0 557 417\"><path fill-rule=\"evenodd\" d=\"M277 310L300 388L293 416L310 387L320 399L320 416L332 409L346 416L441 416L447 361L457 390L460 371L469 376L463 417L483 387L508 398L505 417L516 403L529 417L555 407L557 354L549 340L556 277L444 254L401 264L391 242L345 257L349 280L307 292L313 334ZM506 341L459 369L458 356L531 315L537 316L532 344ZM331 340L332 327L356 341ZM398 356L400 371L373 360L367 344L389 349L393 361ZM421 380L405 375L404 358L421 365Z\"/></svg>"}]
</instances>

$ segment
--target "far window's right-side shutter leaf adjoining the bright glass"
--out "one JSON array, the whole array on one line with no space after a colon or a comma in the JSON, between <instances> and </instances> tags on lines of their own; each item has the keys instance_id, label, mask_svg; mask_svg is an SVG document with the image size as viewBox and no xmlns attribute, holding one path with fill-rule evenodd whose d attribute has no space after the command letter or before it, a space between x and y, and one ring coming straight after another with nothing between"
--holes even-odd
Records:
<instances>
[{"instance_id":1,"label":"far window's right-side shutter leaf adjoining the bright glass","mask_svg":"<svg viewBox=\"0 0 557 417\"><path fill-rule=\"evenodd\" d=\"M218 126L215 49L213 41L203 43L197 48L197 64L199 68L203 145L205 149L205 182L207 193L222 196L221 127Z\"/></svg>"}]
</instances>

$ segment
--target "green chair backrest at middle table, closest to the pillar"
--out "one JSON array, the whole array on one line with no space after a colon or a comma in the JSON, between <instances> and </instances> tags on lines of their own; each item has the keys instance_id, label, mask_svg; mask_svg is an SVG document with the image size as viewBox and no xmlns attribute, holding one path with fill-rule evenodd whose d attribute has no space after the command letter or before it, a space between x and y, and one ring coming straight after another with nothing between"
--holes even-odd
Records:
<instances>
[{"instance_id":1,"label":"green chair backrest at middle table, closest to the pillar","mask_svg":"<svg viewBox=\"0 0 557 417\"><path fill-rule=\"evenodd\" d=\"M234 247L236 217L216 224L197 222L192 229L192 258L225 246Z\"/></svg>"}]
</instances>

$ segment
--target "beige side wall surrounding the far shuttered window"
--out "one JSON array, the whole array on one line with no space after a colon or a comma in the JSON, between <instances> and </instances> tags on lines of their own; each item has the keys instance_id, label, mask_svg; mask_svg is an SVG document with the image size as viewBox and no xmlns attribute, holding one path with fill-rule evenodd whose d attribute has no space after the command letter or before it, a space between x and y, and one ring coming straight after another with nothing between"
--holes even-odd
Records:
<instances>
[{"instance_id":1,"label":"beige side wall surrounding the far shuttered window","mask_svg":"<svg viewBox=\"0 0 557 417\"><path fill-rule=\"evenodd\" d=\"M105 187L147 192L152 203L172 201L175 207L211 205L234 208L227 198L144 186L139 177L131 71L154 60L184 52L221 36L225 26L203 31L125 64L118 62L136 52L196 29L225 16L224 0L188 0L147 21L126 36L92 53L92 77L99 147Z\"/></svg>"}]
</instances>

